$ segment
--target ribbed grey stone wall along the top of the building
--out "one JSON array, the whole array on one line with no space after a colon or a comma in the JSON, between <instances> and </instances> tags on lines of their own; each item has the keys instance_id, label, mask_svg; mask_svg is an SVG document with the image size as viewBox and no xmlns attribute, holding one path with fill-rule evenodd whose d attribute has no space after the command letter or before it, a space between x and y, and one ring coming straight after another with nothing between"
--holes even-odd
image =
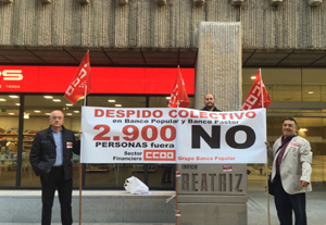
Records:
<instances>
[{"instance_id":1,"label":"ribbed grey stone wall along the top of the building","mask_svg":"<svg viewBox=\"0 0 326 225\"><path fill-rule=\"evenodd\" d=\"M13 0L0 2L0 46L197 48L200 22L240 22L243 49L326 49L326 1Z\"/></svg>"}]
</instances>

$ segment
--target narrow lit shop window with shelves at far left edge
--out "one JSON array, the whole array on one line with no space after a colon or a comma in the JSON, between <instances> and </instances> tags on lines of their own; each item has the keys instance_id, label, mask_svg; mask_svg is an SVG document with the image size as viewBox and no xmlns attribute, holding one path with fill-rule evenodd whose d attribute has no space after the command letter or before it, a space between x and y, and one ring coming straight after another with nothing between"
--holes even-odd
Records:
<instances>
[{"instance_id":1,"label":"narrow lit shop window with shelves at far left edge","mask_svg":"<svg viewBox=\"0 0 326 225\"><path fill-rule=\"evenodd\" d=\"M0 186L15 186L20 96L0 96Z\"/></svg>"}]
</instances>

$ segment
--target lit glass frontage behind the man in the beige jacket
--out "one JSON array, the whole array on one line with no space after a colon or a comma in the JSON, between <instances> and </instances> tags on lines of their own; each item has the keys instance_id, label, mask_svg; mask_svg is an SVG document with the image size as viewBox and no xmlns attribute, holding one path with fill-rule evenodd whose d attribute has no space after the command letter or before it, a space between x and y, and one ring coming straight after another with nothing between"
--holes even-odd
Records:
<instances>
[{"instance_id":1,"label":"lit glass frontage behind the man in the beige jacket","mask_svg":"<svg viewBox=\"0 0 326 225\"><path fill-rule=\"evenodd\" d=\"M326 173L324 173L326 165L326 120L324 117L326 110L321 103L321 101L326 101L325 72L325 68L262 70L262 77L272 102L275 101L274 110L267 110L267 140L273 145L281 135L284 118L294 117L298 122L298 135L306 138L312 147L312 182L326 180ZM253 83L250 80L250 76L255 75L255 68L243 68L243 100ZM278 105L283 102L287 102L287 104ZM267 174L271 173L271 168L272 162L268 161ZM265 165L248 164L248 170L251 171L248 176L248 188L265 189Z\"/></svg>"}]
</instances>

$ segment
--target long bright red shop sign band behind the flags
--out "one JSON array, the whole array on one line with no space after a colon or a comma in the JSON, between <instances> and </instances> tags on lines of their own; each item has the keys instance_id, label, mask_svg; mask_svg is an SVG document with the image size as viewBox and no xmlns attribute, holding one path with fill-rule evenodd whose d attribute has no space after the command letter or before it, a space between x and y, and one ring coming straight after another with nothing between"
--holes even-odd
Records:
<instances>
[{"instance_id":1,"label":"long bright red shop sign band behind the flags","mask_svg":"<svg viewBox=\"0 0 326 225\"><path fill-rule=\"evenodd\" d=\"M0 92L64 93L77 66L0 66ZM188 95L195 70L180 68ZM91 67L91 93L170 95L177 68Z\"/></svg>"}]
</instances>

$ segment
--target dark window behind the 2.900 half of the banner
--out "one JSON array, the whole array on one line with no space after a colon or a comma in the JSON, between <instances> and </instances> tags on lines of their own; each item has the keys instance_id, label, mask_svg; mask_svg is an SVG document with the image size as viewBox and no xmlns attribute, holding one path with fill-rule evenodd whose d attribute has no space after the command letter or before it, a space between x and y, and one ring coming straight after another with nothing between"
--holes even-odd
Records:
<instances>
[{"instance_id":1,"label":"dark window behind the 2.900 half of the banner","mask_svg":"<svg viewBox=\"0 0 326 225\"><path fill-rule=\"evenodd\" d=\"M135 96L89 96L89 107L146 108L146 97ZM86 187L122 188L125 179L136 176L145 182L147 164L86 164Z\"/></svg>"}]
</instances>

